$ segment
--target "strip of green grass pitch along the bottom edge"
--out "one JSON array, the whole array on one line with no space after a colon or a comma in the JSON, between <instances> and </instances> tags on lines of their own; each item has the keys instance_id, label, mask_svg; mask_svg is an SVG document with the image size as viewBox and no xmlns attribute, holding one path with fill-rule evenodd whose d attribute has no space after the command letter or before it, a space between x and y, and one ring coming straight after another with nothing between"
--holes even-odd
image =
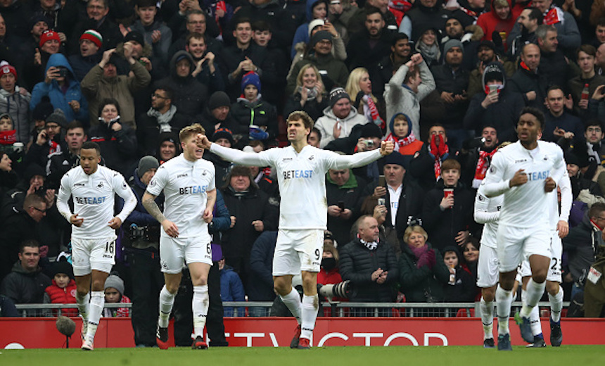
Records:
<instances>
[{"instance_id":1,"label":"strip of green grass pitch along the bottom edge","mask_svg":"<svg viewBox=\"0 0 605 366\"><path fill-rule=\"evenodd\" d=\"M0 350L3 366L589 366L605 364L605 346L561 346L559 348L525 348L514 346L512 352L483 349L480 346L447 347L320 347L309 351L272 347L210 348L98 348L92 352L79 348Z\"/></svg>"}]
</instances>

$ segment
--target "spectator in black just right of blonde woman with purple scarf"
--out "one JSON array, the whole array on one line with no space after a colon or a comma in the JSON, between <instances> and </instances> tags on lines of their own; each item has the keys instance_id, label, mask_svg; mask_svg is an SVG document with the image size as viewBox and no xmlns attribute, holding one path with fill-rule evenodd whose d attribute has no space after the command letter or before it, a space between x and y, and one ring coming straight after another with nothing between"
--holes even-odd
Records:
<instances>
[{"instance_id":1,"label":"spectator in black just right of blonde woman with purple scarf","mask_svg":"<svg viewBox=\"0 0 605 366\"><path fill-rule=\"evenodd\" d=\"M477 292L473 277L460 265L460 252L455 246L443 248L443 261L450 270L450 281L443 285L445 303L472 303Z\"/></svg>"}]
</instances>

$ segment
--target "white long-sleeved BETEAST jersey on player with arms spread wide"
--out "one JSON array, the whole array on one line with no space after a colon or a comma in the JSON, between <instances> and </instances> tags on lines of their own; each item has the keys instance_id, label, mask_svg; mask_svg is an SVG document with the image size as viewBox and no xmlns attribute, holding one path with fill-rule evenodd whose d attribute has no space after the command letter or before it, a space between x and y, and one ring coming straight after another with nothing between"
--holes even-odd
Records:
<instances>
[{"instance_id":1,"label":"white long-sleeved BETEAST jersey on player with arms spread wide","mask_svg":"<svg viewBox=\"0 0 605 366\"><path fill-rule=\"evenodd\" d=\"M326 229L328 201L326 172L330 169L355 168L381 157L379 149L338 155L333 151L307 145L297 153L292 146L260 153L244 153L212 144L210 151L234 163L267 166L276 169L281 203L280 229Z\"/></svg>"}]
</instances>

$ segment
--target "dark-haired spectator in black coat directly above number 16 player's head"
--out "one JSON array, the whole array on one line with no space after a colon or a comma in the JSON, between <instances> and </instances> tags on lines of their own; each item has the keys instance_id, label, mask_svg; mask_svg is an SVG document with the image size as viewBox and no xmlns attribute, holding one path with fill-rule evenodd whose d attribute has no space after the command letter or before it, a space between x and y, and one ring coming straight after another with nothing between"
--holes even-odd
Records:
<instances>
[{"instance_id":1,"label":"dark-haired spectator in black coat directly above number 16 player's head","mask_svg":"<svg viewBox=\"0 0 605 366\"><path fill-rule=\"evenodd\" d=\"M134 130L122 123L120 104L115 99L103 99L98 107L98 124L91 127L89 141L101 146L107 168L130 177L136 156Z\"/></svg>"}]
</instances>

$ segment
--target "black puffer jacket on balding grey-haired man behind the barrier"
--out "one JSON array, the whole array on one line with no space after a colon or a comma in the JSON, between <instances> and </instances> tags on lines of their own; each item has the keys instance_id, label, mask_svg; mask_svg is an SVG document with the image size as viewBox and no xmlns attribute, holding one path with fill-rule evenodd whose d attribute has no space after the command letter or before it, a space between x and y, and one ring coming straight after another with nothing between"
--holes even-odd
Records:
<instances>
[{"instance_id":1,"label":"black puffer jacket on balding grey-haired man behind the barrier","mask_svg":"<svg viewBox=\"0 0 605 366\"><path fill-rule=\"evenodd\" d=\"M378 268L388 271L383 284L371 279L371 274ZM349 279L357 290L350 301L395 301L393 288L399 279L399 269L393 247L386 242L378 243L376 250L370 251L359 239L350 241L340 251L340 276L345 281Z\"/></svg>"}]
</instances>

